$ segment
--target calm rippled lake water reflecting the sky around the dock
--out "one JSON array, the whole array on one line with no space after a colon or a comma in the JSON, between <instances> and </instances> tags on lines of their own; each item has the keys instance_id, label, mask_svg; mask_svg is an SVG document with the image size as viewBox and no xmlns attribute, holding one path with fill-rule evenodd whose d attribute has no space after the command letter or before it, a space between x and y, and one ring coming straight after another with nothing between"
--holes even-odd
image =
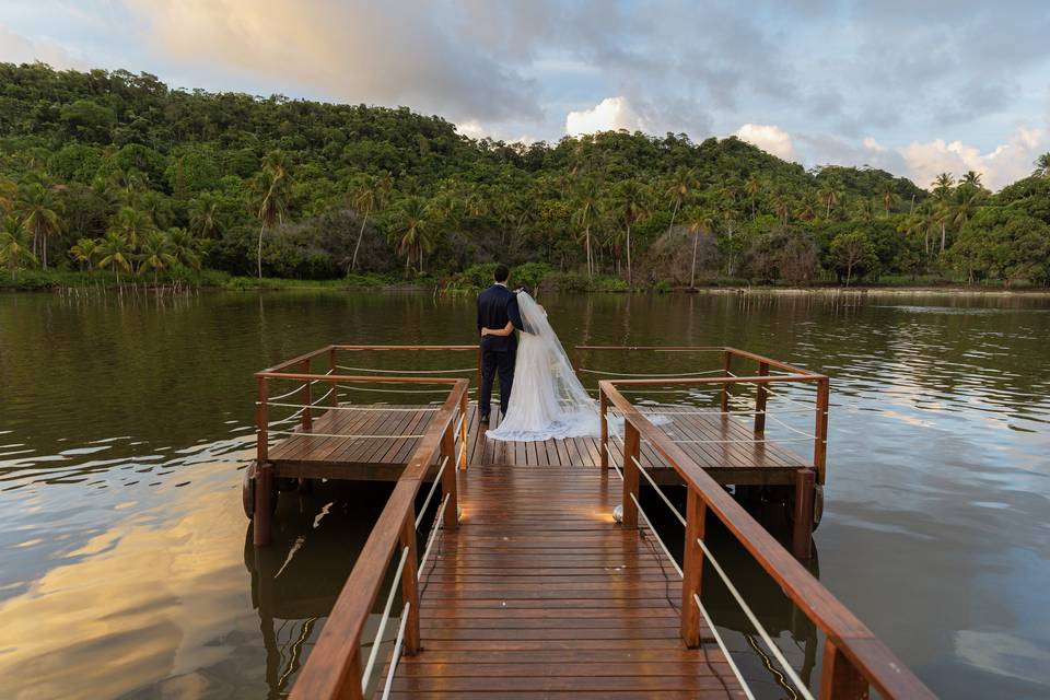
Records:
<instances>
[{"instance_id":1,"label":"calm rippled lake water reflecting the sky around the dock","mask_svg":"<svg viewBox=\"0 0 1050 700\"><path fill-rule=\"evenodd\" d=\"M830 374L821 581L945 698L1050 695L1050 302L542 301L567 346L732 345ZM385 491L285 495L257 557L252 373L471 326L470 300L422 294L0 295L0 697L287 692ZM805 669L812 630L721 550ZM711 597L761 695L784 696Z\"/></svg>"}]
</instances>

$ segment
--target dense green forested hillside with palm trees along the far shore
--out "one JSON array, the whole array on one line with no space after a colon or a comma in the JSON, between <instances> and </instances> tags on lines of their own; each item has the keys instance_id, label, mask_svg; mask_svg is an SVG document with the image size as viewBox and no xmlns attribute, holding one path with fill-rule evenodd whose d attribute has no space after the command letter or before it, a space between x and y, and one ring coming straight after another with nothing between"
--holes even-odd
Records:
<instances>
[{"instance_id":1,"label":"dense green forested hillside with palm trees along the far shore","mask_svg":"<svg viewBox=\"0 0 1050 700\"><path fill-rule=\"evenodd\" d=\"M13 283L469 287L501 260L575 289L1048 285L1050 153L1035 167L998 194L972 172L928 190L867 167L806 171L732 137L508 144L405 107L0 63L0 261Z\"/></svg>"}]
</instances>

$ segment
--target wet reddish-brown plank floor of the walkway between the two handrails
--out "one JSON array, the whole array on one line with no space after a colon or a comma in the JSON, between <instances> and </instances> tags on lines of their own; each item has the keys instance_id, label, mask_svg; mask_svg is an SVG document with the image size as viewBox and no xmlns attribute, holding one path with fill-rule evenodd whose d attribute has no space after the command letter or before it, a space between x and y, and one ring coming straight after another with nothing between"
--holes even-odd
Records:
<instances>
[{"instance_id":1,"label":"wet reddish-brown plank floor of the walkway between the two handrails","mask_svg":"<svg viewBox=\"0 0 1050 700\"><path fill-rule=\"evenodd\" d=\"M460 525L421 571L423 651L390 697L745 697L708 630L682 645L681 579L614 523L616 475L548 466L460 474Z\"/></svg>"}]
</instances>

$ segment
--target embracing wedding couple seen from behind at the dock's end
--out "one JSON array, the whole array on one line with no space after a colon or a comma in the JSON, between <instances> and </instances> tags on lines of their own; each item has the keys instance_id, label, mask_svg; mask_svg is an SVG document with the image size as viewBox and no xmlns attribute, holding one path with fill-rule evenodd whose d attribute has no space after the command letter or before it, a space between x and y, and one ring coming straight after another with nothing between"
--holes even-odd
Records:
<instances>
[{"instance_id":1,"label":"embracing wedding couple seen from behind at the dock's end","mask_svg":"<svg viewBox=\"0 0 1050 700\"><path fill-rule=\"evenodd\" d=\"M532 442L600 434L597 406L572 371L547 312L528 292L512 292L509 278L506 266L498 266L492 287L478 294L482 430L499 375L503 420L488 438Z\"/></svg>"}]
</instances>

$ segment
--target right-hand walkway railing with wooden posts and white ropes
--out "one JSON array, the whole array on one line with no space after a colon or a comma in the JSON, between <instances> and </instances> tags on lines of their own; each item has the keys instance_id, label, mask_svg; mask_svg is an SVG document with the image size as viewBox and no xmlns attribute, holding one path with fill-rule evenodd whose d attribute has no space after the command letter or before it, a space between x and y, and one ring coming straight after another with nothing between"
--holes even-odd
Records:
<instances>
[{"instance_id":1,"label":"right-hand walkway railing with wooden posts and white ropes","mask_svg":"<svg viewBox=\"0 0 1050 700\"><path fill-rule=\"evenodd\" d=\"M728 350L728 349L720 349ZM735 354L745 354L759 362L777 365L790 371L795 380L812 381L816 378L827 386L827 378L809 372L774 363L765 358L736 351ZM728 364L728 362L726 362ZM791 375L789 375L791 376ZM769 377L747 376L731 377L734 381L758 383L762 386ZM679 568L669 550L661 541L664 553L672 559L681 576L681 639L687 646L698 646L700 643L701 617L711 630L715 623L708 616L701 604L701 584L704 579L705 564L723 580L726 587L748 616L759 635L778 660L784 674L791 679L798 695L807 700L813 699L806 685L794 673L790 663L777 648L772 639L762 628L757 617L750 611L725 571L718 563L704 541L704 521L710 511L736 540L744 547L750 557L769 574L792 599L800 610L812 620L826 635L824 648L822 669L819 684L819 698L860 699L867 698L870 687L874 687L883 698L922 699L933 698L934 695L915 677L905 664L880 641L875 634L850 612L831 593L825 588L784 547L773 538L744 508L734 500L721 485L719 485L703 468L698 465L681 447L679 447L666 432L653 424L646 415L640 411L622 393L620 386L638 386L648 380L602 380L598 383L603 408L603 425L606 427L605 407L611 407L623 419L622 435L622 465L611 464L623 481L623 516L625 527L637 528L639 518L656 535L649 521L649 516L640 505L641 478L650 482L670 509L674 516L685 527L685 542L682 549L682 564ZM675 380L678 382L678 380ZM688 380L690 382L726 382L726 377L711 380ZM827 389L824 389L826 397ZM824 399L824 406L827 406ZM825 423L826 424L826 423ZM607 436L607 427L604 429ZM677 508L664 495L656 482L650 477L641 464L641 445L643 442L660 455L666 465L673 467L687 489L686 513L682 515ZM607 451L606 451L607 452ZM812 482L810 482L812 483ZM658 540L658 535L656 535ZM718 637L731 667L739 676L732 662L728 650ZM743 678L740 681L744 682ZM746 684L745 684L746 687ZM749 696L750 697L750 696Z\"/></svg>"}]
</instances>

